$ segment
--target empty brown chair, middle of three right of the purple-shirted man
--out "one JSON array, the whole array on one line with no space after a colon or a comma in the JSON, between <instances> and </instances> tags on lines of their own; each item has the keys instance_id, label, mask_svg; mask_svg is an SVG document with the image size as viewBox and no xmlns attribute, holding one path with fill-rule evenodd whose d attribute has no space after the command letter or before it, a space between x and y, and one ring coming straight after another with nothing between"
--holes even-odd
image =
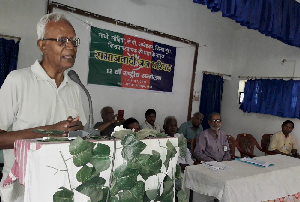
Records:
<instances>
[{"instance_id":1,"label":"empty brown chair, middle of three right of the purple-shirted man","mask_svg":"<svg viewBox=\"0 0 300 202\"><path fill-rule=\"evenodd\" d=\"M236 141L238 142L238 145L241 147L241 149L245 152L248 152L252 155L254 155L254 146L259 149L259 151L262 151L266 154L272 155L273 153L269 152L268 150L262 149L256 139L251 135L247 133L240 133L236 137ZM241 153L241 157L245 157L246 155Z\"/></svg>"}]
</instances>

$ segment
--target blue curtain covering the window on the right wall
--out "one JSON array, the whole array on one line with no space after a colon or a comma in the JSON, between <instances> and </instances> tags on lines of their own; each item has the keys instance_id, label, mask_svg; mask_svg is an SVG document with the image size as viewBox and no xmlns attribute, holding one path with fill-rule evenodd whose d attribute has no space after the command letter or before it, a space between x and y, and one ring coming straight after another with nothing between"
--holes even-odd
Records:
<instances>
[{"instance_id":1,"label":"blue curtain covering the window on the right wall","mask_svg":"<svg viewBox=\"0 0 300 202\"><path fill-rule=\"evenodd\" d=\"M240 109L300 119L300 80L248 80Z\"/></svg>"}]
</instances>

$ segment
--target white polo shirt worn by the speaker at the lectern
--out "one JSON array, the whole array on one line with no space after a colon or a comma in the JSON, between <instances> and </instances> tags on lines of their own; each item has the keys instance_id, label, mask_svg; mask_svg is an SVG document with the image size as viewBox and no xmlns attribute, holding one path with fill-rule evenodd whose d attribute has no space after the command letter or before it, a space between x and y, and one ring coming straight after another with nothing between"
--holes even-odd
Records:
<instances>
[{"instance_id":1,"label":"white polo shirt worn by the speaker at the lectern","mask_svg":"<svg viewBox=\"0 0 300 202\"><path fill-rule=\"evenodd\" d=\"M83 111L79 85L64 71L64 80L57 88L36 60L29 68L10 72L0 89L0 129L18 131L80 116L82 125L87 120ZM5 179L14 163L13 149L3 150ZM2 185L3 180L1 180Z\"/></svg>"}]
</instances>

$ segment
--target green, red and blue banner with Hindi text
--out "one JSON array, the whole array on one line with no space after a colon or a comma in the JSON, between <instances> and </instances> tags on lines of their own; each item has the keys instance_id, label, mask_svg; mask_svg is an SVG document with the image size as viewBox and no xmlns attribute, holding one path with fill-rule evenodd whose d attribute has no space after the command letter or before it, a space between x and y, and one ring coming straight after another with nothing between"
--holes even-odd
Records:
<instances>
[{"instance_id":1,"label":"green, red and blue banner with Hindi text","mask_svg":"<svg viewBox=\"0 0 300 202\"><path fill-rule=\"evenodd\" d=\"M88 83L172 92L176 47L91 27Z\"/></svg>"}]
</instances>

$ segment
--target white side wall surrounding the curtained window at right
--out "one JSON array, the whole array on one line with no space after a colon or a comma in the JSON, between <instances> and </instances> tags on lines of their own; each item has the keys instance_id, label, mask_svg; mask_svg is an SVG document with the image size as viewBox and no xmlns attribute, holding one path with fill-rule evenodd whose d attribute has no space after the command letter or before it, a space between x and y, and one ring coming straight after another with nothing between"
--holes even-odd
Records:
<instances>
[{"instance_id":1,"label":"white side wall surrounding the curtained window at right","mask_svg":"<svg viewBox=\"0 0 300 202\"><path fill-rule=\"evenodd\" d=\"M243 29L235 32L233 48L231 81L225 81L222 100L222 129L226 134L236 137L239 133L250 133L256 140L261 141L263 134L273 134L281 130L281 125L286 120L295 123L292 134L295 135L298 145L300 144L300 121L299 119L281 118L267 114L244 113L239 109L236 97L238 95L238 76L269 76L291 77L294 62L280 63L283 59L297 60L295 76L300 76L300 49L286 45L271 37L266 37L258 31ZM256 155L264 153L256 150Z\"/></svg>"}]
</instances>

